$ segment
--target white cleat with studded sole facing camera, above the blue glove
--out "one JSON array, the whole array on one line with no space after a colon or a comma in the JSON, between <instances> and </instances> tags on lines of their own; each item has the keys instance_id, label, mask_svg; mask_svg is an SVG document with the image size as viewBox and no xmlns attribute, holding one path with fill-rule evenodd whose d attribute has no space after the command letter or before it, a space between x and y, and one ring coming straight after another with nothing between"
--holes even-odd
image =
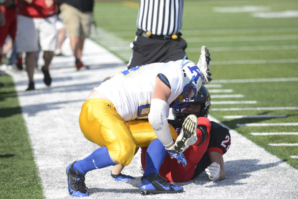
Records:
<instances>
[{"instance_id":1,"label":"white cleat with studded sole facing camera, above the blue glove","mask_svg":"<svg viewBox=\"0 0 298 199\"><path fill-rule=\"evenodd\" d=\"M197 116L188 115L182 125L181 133L179 134L174 144L174 150L178 153L184 152L190 145L197 142Z\"/></svg>"}]
</instances>

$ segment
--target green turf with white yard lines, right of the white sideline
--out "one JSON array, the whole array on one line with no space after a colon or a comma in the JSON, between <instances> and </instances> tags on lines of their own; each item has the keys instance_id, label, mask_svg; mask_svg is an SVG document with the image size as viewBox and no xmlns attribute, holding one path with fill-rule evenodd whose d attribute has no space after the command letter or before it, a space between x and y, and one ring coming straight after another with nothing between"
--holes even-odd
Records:
<instances>
[{"instance_id":1,"label":"green turf with white yard lines, right of the white sideline","mask_svg":"<svg viewBox=\"0 0 298 199\"><path fill-rule=\"evenodd\" d=\"M103 35L113 40L94 37L94 40L128 62L131 49L123 44L134 41L139 1L97 2L94 19ZM232 9L234 8L234 9ZM237 12L234 12L237 10ZM240 12L243 10L243 12ZM253 12L253 10L259 10ZM186 53L195 63L200 47L211 53L210 71L213 84L209 87L210 114L237 130L268 152L298 169L298 16L282 17L287 10L298 10L297 1L185 1L182 37L187 41ZM254 17L258 13L273 13L274 18ZM272 14L271 14L272 15ZM281 15L281 16L280 16ZM115 39L116 38L116 39ZM263 79L265 80L251 80ZM285 81L273 78L294 78ZM239 79L239 83L218 83L218 80ZM250 79L251 82L244 80ZM210 84L212 86L212 84ZM212 90L229 90L213 93ZM217 98L216 95L242 95L241 98ZM233 104L215 104L236 101ZM238 104L238 101L249 101ZM214 103L212 103L214 102ZM231 111L217 108L258 108L265 110ZM294 110L266 110L268 107L290 107ZM270 108L268 108L270 109ZM235 115L282 115L226 119ZM269 123L268 126L237 126L246 123ZM286 123L272 126L276 123ZM290 123L290 124L289 124ZM292 125L291 125L292 124ZM256 136L251 133L281 133ZM285 133L296 132L296 135ZM232 139L233 141L233 139ZM285 146L269 144L284 143Z\"/></svg>"}]
</instances>

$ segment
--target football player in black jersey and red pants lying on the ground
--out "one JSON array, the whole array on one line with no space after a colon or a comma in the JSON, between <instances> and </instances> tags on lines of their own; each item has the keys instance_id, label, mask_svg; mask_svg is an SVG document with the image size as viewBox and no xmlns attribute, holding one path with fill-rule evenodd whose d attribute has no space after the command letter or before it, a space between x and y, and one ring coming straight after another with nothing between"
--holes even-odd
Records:
<instances>
[{"instance_id":1,"label":"football player in black jersey and red pants lying on the ground","mask_svg":"<svg viewBox=\"0 0 298 199\"><path fill-rule=\"evenodd\" d=\"M196 132L197 142L200 142L196 142L183 152L188 160L186 167L181 164L173 164L175 160L167 155L160 167L159 174L168 181L186 182L197 177L204 170L212 181L224 179L223 155L231 146L231 136L228 129L207 119L209 108L210 95L207 88L202 85L199 94L193 102L189 102L187 108L173 110L175 119L168 120L168 122L178 134L182 128L182 122L188 115L194 114L198 117ZM145 169L145 157L146 147L142 147L141 162L143 169Z\"/></svg>"}]
</instances>

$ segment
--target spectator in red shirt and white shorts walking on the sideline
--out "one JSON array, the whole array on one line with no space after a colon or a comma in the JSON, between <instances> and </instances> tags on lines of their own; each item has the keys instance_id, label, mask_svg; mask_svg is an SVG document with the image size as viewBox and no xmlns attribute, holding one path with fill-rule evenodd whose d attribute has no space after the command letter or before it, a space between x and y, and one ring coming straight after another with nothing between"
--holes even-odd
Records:
<instances>
[{"instance_id":1,"label":"spectator in red shirt and white shorts walking on the sideline","mask_svg":"<svg viewBox=\"0 0 298 199\"><path fill-rule=\"evenodd\" d=\"M53 0L22 0L18 1L17 16L17 51L26 52L25 64L29 77L27 91L35 90L33 74L36 66L36 52L39 46L44 51L44 83L51 85L49 64L54 56L57 45L55 28L55 2ZM38 46L39 45L39 46Z\"/></svg>"}]
</instances>

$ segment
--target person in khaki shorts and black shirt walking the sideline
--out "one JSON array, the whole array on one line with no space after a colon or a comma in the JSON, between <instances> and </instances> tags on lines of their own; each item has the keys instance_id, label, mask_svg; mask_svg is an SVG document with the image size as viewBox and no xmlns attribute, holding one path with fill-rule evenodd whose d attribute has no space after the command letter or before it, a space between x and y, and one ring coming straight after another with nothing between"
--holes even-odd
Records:
<instances>
[{"instance_id":1,"label":"person in khaki shorts and black shirt walking the sideline","mask_svg":"<svg viewBox=\"0 0 298 199\"><path fill-rule=\"evenodd\" d=\"M64 0L60 5L66 31L70 37L70 46L75 56L77 70L84 64L81 62L85 38L90 35L93 21L93 0Z\"/></svg>"}]
</instances>

